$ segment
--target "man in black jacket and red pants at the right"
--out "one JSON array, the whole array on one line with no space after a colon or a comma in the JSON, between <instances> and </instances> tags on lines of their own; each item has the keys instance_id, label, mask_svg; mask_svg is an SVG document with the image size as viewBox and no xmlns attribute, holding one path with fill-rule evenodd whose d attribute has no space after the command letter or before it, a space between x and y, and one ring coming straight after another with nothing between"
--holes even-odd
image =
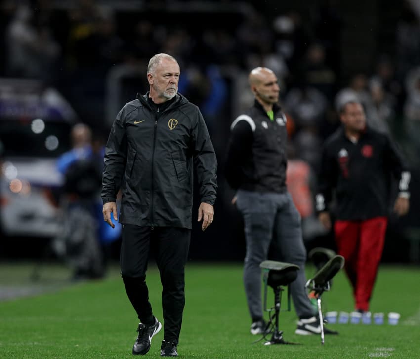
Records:
<instances>
[{"instance_id":1,"label":"man in black jacket and red pants at the right","mask_svg":"<svg viewBox=\"0 0 420 359\"><path fill-rule=\"evenodd\" d=\"M369 310L382 256L391 179L399 181L394 212L405 215L410 172L391 140L366 126L360 103L344 104L340 120L343 126L324 145L316 206L321 223L330 229L328 204L335 190L337 250L345 258L355 309L363 313Z\"/></svg>"}]
</instances>

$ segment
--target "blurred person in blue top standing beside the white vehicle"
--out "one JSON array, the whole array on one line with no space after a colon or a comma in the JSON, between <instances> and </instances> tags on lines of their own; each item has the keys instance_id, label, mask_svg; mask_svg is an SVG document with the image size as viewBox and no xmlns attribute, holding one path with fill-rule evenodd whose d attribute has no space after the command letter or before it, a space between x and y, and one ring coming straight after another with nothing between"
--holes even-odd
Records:
<instances>
[{"instance_id":1,"label":"blurred person in blue top standing beside the white vehicle","mask_svg":"<svg viewBox=\"0 0 420 359\"><path fill-rule=\"evenodd\" d=\"M92 146L92 132L76 124L71 132L73 148L57 160L64 175L62 196L64 256L74 267L74 279L101 278L105 273L107 244L119 238L102 221L101 189L103 148Z\"/></svg>"}]
</instances>

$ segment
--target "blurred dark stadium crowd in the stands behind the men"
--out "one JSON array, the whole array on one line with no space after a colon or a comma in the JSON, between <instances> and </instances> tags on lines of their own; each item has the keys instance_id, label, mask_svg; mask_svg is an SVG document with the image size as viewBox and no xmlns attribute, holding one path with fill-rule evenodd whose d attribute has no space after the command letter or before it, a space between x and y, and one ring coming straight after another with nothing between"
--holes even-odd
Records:
<instances>
[{"instance_id":1,"label":"blurred dark stadium crowd in the stands behind the men","mask_svg":"<svg viewBox=\"0 0 420 359\"><path fill-rule=\"evenodd\" d=\"M266 66L280 79L288 117L289 175L298 178L290 183L310 202L300 206L307 242L328 240L315 223L310 196L323 141L339 126L336 109L343 101L359 99L368 123L401 145L417 186L420 7L416 0L387 1L385 15L393 17L386 22L386 6L377 0L283 2L4 0L0 82L33 79L57 90L74 110L74 121L88 124L104 142L121 106L147 90L149 58L173 55L181 67L179 92L202 110L219 160L218 220L203 235L206 244L192 244L191 255L242 259L242 227L229 204L224 152L230 123L252 101L249 70ZM365 37L383 44L365 48ZM410 216L391 221L389 231L392 243L405 240L407 248L417 236L406 231L416 229L419 213L419 194L415 188L412 193ZM392 243L388 252L408 260L408 249Z\"/></svg>"}]
</instances>

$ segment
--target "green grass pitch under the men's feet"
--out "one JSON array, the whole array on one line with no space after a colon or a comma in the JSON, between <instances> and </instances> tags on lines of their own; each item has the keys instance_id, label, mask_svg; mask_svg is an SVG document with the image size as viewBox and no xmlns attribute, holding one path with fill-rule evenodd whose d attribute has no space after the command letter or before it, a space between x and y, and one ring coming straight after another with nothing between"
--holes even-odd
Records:
<instances>
[{"instance_id":1,"label":"green grass pitch under the men's feet","mask_svg":"<svg viewBox=\"0 0 420 359\"><path fill-rule=\"evenodd\" d=\"M56 266L44 266L36 286L61 283ZM30 265L0 265L1 290L4 282L13 287L30 272ZM308 276L313 273L314 268L308 267ZM322 346L318 335L294 334L297 318L292 308L281 312L280 329L285 340L302 345L264 346L252 344L258 337L249 333L241 264L189 262L178 353L191 359L420 358L419 278L419 267L382 265L379 269L371 310L401 313L396 326L386 321L384 325L330 324L340 334L326 336ZM161 285L153 265L147 281L155 315L162 319ZM323 295L324 313L350 312L352 303L349 284L340 271L331 291ZM285 295L282 308L286 308ZM132 358L137 324L118 268L112 267L104 280L0 302L0 358ZM160 358L162 339L163 330L153 338L146 358Z\"/></svg>"}]
</instances>

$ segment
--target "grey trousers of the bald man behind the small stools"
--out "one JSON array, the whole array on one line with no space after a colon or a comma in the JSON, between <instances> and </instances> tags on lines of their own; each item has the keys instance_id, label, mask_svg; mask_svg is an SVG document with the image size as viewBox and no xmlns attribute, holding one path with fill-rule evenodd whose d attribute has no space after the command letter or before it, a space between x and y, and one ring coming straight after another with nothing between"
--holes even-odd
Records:
<instances>
[{"instance_id":1,"label":"grey trousers of the bald man behind the small stools","mask_svg":"<svg viewBox=\"0 0 420 359\"><path fill-rule=\"evenodd\" d=\"M263 317L259 264L266 259L293 263L300 267L296 280L290 286L292 300L299 318L312 317L315 313L305 289L306 249L300 214L289 192L239 190L236 205L244 218L247 245L244 284L252 320ZM270 258L267 258L269 249Z\"/></svg>"}]
</instances>

